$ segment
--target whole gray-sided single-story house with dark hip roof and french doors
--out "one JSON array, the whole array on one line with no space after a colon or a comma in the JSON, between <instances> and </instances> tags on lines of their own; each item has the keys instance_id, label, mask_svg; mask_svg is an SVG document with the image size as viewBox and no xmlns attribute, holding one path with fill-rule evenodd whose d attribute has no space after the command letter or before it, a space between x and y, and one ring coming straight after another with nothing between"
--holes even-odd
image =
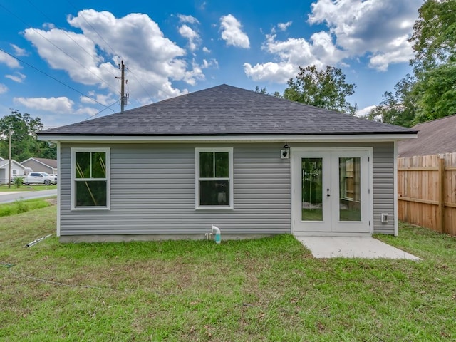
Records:
<instances>
[{"instance_id":1,"label":"whole gray-sided single-story house with dark hip roof and french doors","mask_svg":"<svg viewBox=\"0 0 456 342\"><path fill-rule=\"evenodd\" d=\"M204 239L211 224L398 234L396 143L416 131L222 85L38 138L57 144L57 235L90 242Z\"/></svg>"}]
</instances>

